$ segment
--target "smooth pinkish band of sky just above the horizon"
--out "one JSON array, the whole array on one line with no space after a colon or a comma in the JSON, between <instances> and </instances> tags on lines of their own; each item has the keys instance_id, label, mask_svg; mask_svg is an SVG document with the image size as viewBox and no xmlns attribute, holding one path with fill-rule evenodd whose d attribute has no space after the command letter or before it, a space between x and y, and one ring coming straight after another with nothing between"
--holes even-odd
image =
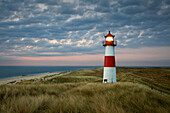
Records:
<instances>
[{"instance_id":1,"label":"smooth pinkish band of sky just above the horizon","mask_svg":"<svg viewBox=\"0 0 170 113\"><path fill-rule=\"evenodd\" d=\"M117 48L117 66L169 66L170 47L143 47L137 48ZM97 52L97 51L96 51ZM104 51L102 51L104 52ZM3 53L0 53L4 55ZM53 56L62 54L60 52L41 52L42 56L6 56L0 61L4 65L103 65L104 54L80 54L68 53L69 56ZM46 55L52 56L46 56ZM135 57L134 57L135 56Z\"/></svg>"}]
</instances>

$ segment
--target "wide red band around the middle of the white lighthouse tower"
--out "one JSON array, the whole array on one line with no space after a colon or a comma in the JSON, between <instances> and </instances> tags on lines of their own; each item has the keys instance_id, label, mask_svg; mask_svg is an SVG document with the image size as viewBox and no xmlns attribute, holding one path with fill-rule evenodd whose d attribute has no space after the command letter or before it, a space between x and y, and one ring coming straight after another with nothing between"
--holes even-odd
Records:
<instances>
[{"instance_id":1,"label":"wide red band around the middle of the white lighthouse tower","mask_svg":"<svg viewBox=\"0 0 170 113\"><path fill-rule=\"evenodd\" d=\"M104 67L115 67L115 56L105 56Z\"/></svg>"}]
</instances>

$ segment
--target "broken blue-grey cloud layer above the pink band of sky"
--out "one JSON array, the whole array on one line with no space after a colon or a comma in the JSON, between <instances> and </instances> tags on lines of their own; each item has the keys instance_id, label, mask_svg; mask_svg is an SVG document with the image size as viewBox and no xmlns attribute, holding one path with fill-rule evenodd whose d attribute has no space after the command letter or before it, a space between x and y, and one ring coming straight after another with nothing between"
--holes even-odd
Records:
<instances>
[{"instance_id":1,"label":"broken blue-grey cloud layer above the pink band of sky","mask_svg":"<svg viewBox=\"0 0 170 113\"><path fill-rule=\"evenodd\" d=\"M1 1L0 52L23 57L103 54L109 29L118 48L167 47L169 6L168 0Z\"/></svg>"}]
</instances>

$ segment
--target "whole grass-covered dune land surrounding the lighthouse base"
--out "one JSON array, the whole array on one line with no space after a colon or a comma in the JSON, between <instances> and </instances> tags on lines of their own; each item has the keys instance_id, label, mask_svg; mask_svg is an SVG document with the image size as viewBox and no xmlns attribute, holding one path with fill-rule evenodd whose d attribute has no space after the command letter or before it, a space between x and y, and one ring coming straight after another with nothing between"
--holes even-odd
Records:
<instances>
[{"instance_id":1,"label":"whole grass-covered dune land surrounding the lighthouse base","mask_svg":"<svg viewBox=\"0 0 170 113\"><path fill-rule=\"evenodd\" d=\"M170 69L118 68L118 82L110 84L102 84L102 72L78 70L0 86L0 112L170 112Z\"/></svg>"}]
</instances>

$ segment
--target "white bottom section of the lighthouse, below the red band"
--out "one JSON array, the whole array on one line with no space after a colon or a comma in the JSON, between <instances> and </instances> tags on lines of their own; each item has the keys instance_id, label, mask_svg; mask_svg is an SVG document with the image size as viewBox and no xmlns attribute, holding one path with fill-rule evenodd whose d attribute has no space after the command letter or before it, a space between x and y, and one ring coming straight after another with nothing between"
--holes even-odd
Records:
<instances>
[{"instance_id":1,"label":"white bottom section of the lighthouse, below the red band","mask_svg":"<svg viewBox=\"0 0 170 113\"><path fill-rule=\"evenodd\" d=\"M103 83L116 82L116 67L104 67Z\"/></svg>"}]
</instances>

